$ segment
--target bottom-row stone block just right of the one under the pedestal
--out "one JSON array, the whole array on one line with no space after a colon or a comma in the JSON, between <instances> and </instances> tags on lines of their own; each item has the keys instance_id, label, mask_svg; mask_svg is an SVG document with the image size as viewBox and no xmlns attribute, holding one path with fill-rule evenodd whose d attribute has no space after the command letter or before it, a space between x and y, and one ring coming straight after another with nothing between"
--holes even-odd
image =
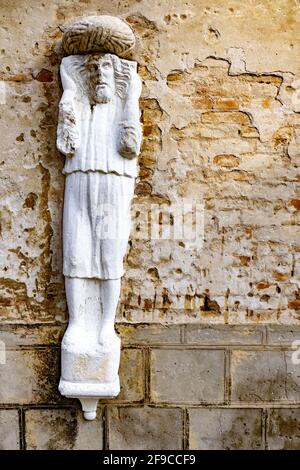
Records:
<instances>
[{"instance_id":1,"label":"bottom-row stone block just right of the one under the pedestal","mask_svg":"<svg viewBox=\"0 0 300 470\"><path fill-rule=\"evenodd\" d=\"M109 409L109 448L114 450L182 449L183 416L179 408Z\"/></svg>"}]
</instances>

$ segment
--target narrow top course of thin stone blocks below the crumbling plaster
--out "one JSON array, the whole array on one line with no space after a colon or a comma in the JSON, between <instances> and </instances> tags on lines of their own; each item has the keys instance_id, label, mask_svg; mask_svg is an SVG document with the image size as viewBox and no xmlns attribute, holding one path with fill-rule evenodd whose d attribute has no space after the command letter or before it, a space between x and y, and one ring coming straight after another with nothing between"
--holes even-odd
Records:
<instances>
[{"instance_id":1,"label":"narrow top course of thin stone blocks below the crumbling plaster","mask_svg":"<svg viewBox=\"0 0 300 470\"><path fill-rule=\"evenodd\" d=\"M7 349L60 345L66 324L3 324L0 341ZM261 347L292 348L300 341L300 325L224 325L199 323L117 322L116 330L124 346Z\"/></svg>"}]
</instances>

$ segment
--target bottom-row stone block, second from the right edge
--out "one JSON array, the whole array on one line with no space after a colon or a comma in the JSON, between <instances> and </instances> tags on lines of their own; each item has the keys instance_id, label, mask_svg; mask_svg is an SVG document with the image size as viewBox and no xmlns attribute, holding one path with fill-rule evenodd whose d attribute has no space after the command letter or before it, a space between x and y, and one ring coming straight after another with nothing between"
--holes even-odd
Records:
<instances>
[{"instance_id":1,"label":"bottom-row stone block, second from the right edge","mask_svg":"<svg viewBox=\"0 0 300 470\"><path fill-rule=\"evenodd\" d=\"M190 449L262 448L262 417L259 409L191 409L189 423Z\"/></svg>"}]
</instances>

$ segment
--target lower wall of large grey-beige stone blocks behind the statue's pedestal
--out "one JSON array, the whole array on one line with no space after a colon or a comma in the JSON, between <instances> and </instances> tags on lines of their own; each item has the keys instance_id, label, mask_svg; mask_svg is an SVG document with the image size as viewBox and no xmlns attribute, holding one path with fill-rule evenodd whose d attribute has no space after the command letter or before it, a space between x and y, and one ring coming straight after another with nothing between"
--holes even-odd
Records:
<instances>
[{"instance_id":1,"label":"lower wall of large grey-beige stone blocks behind the statue's pedestal","mask_svg":"<svg viewBox=\"0 0 300 470\"><path fill-rule=\"evenodd\" d=\"M299 327L117 327L121 394L92 422L57 392L62 328L3 329L1 449L299 449Z\"/></svg>"}]
</instances>

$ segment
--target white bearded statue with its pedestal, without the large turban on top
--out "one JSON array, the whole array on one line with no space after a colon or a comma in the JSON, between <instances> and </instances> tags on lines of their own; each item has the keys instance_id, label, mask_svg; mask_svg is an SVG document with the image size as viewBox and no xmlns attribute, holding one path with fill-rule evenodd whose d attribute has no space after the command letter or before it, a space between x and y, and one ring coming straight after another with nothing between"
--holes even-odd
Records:
<instances>
[{"instance_id":1,"label":"white bearded statue with its pedestal, without the large turban on top","mask_svg":"<svg viewBox=\"0 0 300 470\"><path fill-rule=\"evenodd\" d=\"M135 62L100 53L64 58L61 79L57 147L66 155L63 265L70 320L59 390L78 397L93 419L88 397L119 393L114 320L141 144L141 81Z\"/></svg>"}]
</instances>

